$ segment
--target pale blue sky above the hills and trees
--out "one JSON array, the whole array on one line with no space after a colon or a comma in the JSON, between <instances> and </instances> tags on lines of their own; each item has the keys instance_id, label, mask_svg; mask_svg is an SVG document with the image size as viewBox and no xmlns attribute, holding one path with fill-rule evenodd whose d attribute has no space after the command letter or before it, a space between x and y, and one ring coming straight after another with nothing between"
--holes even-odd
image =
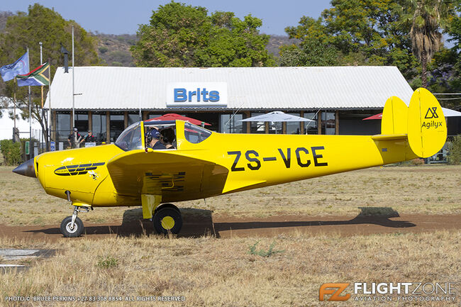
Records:
<instances>
[{"instance_id":1,"label":"pale blue sky above the hills and trees","mask_svg":"<svg viewBox=\"0 0 461 307\"><path fill-rule=\"evenodd\" d=\"M1 0L0 11L27 11L39 3L55 8L65 19L77 21L85 30L106 34L135 34L140 24L149 23L152 11L170 0ZM318 18L330 6L330 0L179 0L192 6L204 6L209 13L231 11L238 18L252 14L262 19L261 33L287 35L284 28L296 26L302 16Z\"/></svg>"}]
</instances>

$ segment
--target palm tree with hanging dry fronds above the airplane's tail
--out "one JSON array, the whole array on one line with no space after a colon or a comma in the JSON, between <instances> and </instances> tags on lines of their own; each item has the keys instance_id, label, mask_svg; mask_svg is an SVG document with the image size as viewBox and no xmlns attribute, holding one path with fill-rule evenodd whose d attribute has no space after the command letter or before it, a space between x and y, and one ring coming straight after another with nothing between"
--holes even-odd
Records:
<instances>
[{"instance_id":1,"label":"palm tree with hanging dry fronds above the airplane's tail","mask_svg":"<svg viewBox=\"0 0 461 307\"><path fill-rule=\"evenodd\" d=\"M441 30L448 26L455 14L453 1L410 0L409 4L406 19L411 23L411 49L421 62L421 82L423 87L427 87L427 65L443 46Z\"/></svg>"}]
</instances>

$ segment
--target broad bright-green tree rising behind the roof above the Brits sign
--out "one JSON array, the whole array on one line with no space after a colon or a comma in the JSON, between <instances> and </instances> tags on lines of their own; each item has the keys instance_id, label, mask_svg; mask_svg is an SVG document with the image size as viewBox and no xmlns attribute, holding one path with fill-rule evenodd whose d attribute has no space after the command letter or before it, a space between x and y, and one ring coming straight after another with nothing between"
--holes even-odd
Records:
<instances>
[{"instance_id":1,"label":"broad bright-green tree rising behind the roof above the Brits sign","mask_svg":"<svg viewBox=\"0 0 461 307\"><path fill-rule=\"evenodd\" d=\"M262 21L240 20L231 12L170 2L140 25L139 41L130 48L135 65L143 67L241 67L274 65L260 34Z\"/></svg>"}]
</instances>

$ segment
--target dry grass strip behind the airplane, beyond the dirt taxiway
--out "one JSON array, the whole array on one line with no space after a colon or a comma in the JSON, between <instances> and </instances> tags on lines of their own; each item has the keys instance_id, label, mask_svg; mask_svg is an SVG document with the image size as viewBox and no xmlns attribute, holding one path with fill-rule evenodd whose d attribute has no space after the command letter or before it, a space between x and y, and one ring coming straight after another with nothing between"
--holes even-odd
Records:
<instances>
[{"instance_id":1,"label":"dry grass strip behind the airplane, beyond the dirt taxiway","mask_svg":"<svg viewBox=\"0 0 461 307\"><path fill-rule=\"evenodd\" d=\"M48 196L37 179L0 167L0 225L59 224L72 206ZM401 214L461 213L461 165L374 167L355 172L291 182L197 201L176 203L213 216L265 217L357 215L359 207L391 207ZM121 221L126 207L95 208L84 221Z\"/></svg>"}]
</instances>

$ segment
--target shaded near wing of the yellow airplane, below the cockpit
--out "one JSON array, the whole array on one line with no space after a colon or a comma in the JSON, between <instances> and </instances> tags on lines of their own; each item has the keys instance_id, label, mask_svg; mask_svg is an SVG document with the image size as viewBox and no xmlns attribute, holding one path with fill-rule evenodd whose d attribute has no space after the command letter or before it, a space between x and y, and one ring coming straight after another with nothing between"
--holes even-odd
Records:
<instances>
[{"instance_id":1,"label":"shaded near wing of the yellow airplane, below the cockpit","mask_svg":"<svg viewBox=\"0 0 461 307\"><path fill-rule=\"evenodd\" d=\"M107 169L118 194L162 195L162 202L220 194L228 169L177 151L131 150L113 157Z\"/></svg>"}]
</instances>

